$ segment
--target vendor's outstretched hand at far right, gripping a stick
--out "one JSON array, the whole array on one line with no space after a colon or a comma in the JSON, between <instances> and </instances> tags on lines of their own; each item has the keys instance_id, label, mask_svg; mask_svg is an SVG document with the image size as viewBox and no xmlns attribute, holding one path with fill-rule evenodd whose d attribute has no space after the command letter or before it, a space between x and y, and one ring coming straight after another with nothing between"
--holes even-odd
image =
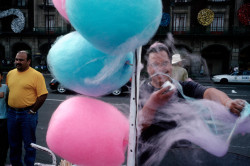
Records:
<instances>
[{"instance_id":1,"label":"vendor's outstretched hand at far right, gripping a stick","mask_svg":"<svg viewBox=\"0 0 250 166\"><path fill-rule=\"evenodd\" d=\"M246 103L245 100L242 99L235 99L235 100L229 99L225 103L225 106L230 109L231 113L233 113L236 116L240 116L241 111L245 107L245 103Z\"/></svg>"}]
</instances>

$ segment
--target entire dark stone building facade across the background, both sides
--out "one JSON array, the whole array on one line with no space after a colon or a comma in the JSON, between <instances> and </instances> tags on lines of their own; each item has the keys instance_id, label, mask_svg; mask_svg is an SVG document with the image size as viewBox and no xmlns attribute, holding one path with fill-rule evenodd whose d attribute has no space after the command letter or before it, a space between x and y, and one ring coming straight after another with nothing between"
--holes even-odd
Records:
<instances>
[{"instance_id":1,"label":"entire dark stone building facade across the background, both sides","mask_svg":"<svg viewBox=\"0 0 250 166\"><path fill-rule=\"evenodd\" d=\"M159 26L149 44L165 41L167 34L172 33L175 52L181 53L193 76L228 73L234 67L250 70L250 25L241 23L238 17L239 9L249 0L162 0L162 3L163 14L169 19ZM206 26L197 19L203 9L214 13L212 23ZM15 18L20 19L19 25L23 18L25 22L23 27L13 30L11 23ZM32 66L40 68L46 65L48 50L56 38L72 30L52 0L0 0L1 65L8 66L8 70L16 52L27 50L32 54ZM143 47L143 53L147 47Z\"/></svg>"}]
</instances>

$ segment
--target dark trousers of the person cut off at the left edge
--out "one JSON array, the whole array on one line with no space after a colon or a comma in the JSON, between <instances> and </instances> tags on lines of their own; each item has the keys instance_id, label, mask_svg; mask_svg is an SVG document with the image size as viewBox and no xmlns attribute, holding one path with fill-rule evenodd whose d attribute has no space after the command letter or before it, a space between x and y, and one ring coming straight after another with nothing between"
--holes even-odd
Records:
<instances>
[{"instance_id":1,"label":"dark trousers of the person cut off at the left edge","mask_svg":"<svg viewBox=\"0 0 250 166\"><path fill-rule=\"evenodd\" d=\"M0 166L5 165L8 148L7 119L0 119Z\"/></svg>"}]
</instances>

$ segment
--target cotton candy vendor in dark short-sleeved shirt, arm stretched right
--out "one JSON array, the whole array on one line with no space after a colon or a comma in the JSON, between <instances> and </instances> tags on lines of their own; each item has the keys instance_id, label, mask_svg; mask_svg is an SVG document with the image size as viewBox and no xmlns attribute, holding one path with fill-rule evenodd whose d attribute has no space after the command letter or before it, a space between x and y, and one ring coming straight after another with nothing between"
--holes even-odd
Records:
<instances>
[{"instance_id":1,"label":"cotton candy vendor in dark short-sleeved shirt, arm stretched right","mask_svg":"<svg viewBox=\"0 0 250 166\"><path fill-rule=\"evenodd\" d=\"M153 44L147 50L146 56L148 57L147 72L151 79L142 83L140 89L141 110L139 112L139 151L144 145L150 144L150 141L154 136L160 135L162 132L176 127L175 121L154 123L154 118L156 117L157 112L159 112L159 110L170 101L172 96L175 97L175 99L185 100L178 89L175 88L170 90L171 86L162 87L166 81L172 82L169 77L172 76L173 70L171 63L172 55L169 52L168 47L163 43ZM224 92L215 88L204 87L194 81L180 81L179 84L182 87L185 96L216 101L228 107L230 111L237 116L240 115L240 112L244 108L244 100L233 100ZM141 94L142 92L144 93ZM143 97L145 98L146 94L149 94L149 97L144 100ZM144 165L146 160L153 154L151 151L143 151L138 155L139 165Z\"/></svg>"}]
</instances>

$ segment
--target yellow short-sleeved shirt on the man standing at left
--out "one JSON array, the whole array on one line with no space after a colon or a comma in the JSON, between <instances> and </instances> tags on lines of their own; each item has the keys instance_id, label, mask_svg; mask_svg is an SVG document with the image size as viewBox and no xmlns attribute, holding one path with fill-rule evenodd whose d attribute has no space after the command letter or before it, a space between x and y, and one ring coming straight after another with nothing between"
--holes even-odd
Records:
<instances>
[{"instance_id":1,"label":"yellow short-sleeved shirt on the man standing at left","mask_svg":"<svg viewBox=\"0 0 250 166\"><path fill-rule=\"evenodd\" d=\"M48 93L43 75L31 67L24 72L9 71L6 84L9 88L8 105L14 108L31 106L37 97Z\"/></svg>"}]
</instances>

